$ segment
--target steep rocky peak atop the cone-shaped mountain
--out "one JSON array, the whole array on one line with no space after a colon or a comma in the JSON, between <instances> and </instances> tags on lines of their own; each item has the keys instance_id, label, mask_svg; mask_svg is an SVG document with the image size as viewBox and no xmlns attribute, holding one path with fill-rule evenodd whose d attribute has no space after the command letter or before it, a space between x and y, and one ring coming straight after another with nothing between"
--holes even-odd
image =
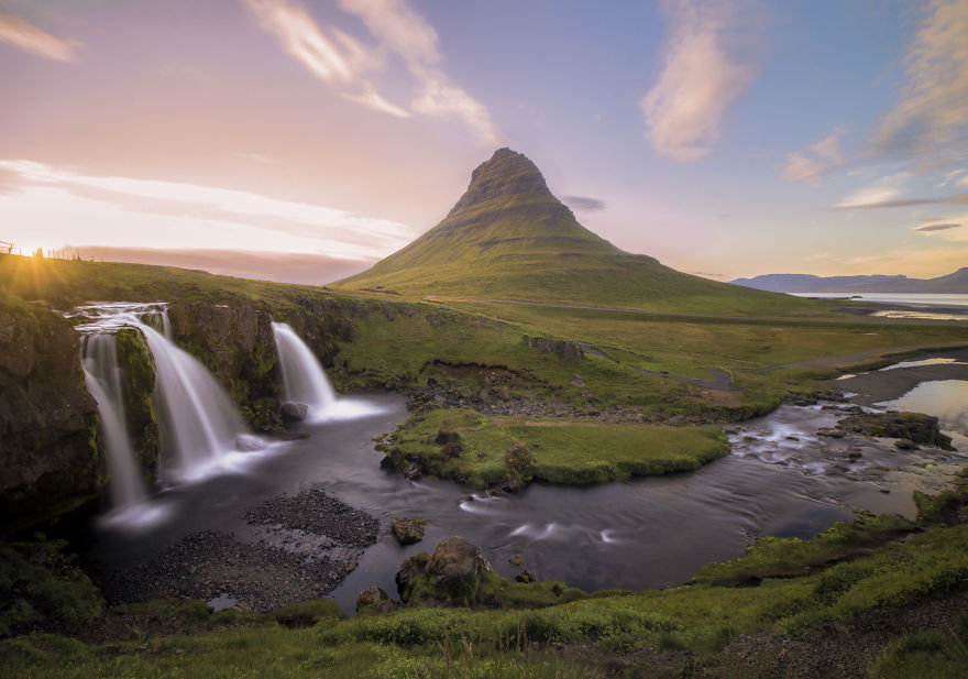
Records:
<instances>
[{"instance_id":1,"label":"steep rocky peak atop the cone-shaped mountain","mask_svg":"<svg viewBox=\"0 0 968 679\"><path fill-rule=\"evenodd\" d=\"M451 215L495 198L510 201L551 198L558 202L548 190L538 166L525 154L508 147L495 151L471 173L468 190L454 204Z\"/></svg>"}]
</instances>

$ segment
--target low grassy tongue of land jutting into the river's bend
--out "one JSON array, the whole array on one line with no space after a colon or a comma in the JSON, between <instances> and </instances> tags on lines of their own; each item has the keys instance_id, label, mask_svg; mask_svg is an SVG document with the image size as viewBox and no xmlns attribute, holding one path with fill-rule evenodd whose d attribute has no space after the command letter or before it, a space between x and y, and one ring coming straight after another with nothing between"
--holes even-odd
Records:
<instances>
[{"instance_id":1,"label":"low grassy tongue of land jutting into the river's bend","mask_svg":"<svg viewBox=\"0 0 968 679\"><path fill-rule=\"evenodd\" d=\"M442 430L454 431L459 452L441 440ZM485 417L470 409L417 415L384 448L402 463L418 460L425 473L485 488L508 481L508 453L517 445L530 456L525 480L551 483L692 471L729 452L723 432L711 427Z\"/></svg>"}]
</instances>

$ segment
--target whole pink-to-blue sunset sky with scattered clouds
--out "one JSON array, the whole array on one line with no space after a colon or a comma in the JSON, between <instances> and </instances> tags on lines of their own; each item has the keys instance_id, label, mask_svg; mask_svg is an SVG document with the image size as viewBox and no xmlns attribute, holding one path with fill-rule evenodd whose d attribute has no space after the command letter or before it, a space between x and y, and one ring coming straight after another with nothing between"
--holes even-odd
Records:
<instances>
[{"instance_id":1,"label":"whole pink-to-blue sunset sky with scattered clouds","mask_svg":"<svg viewBox=\"0 0 968 679\"><path fill-rule=\"evenodd\" d=\"M680 271L968 266L968 0L0 0L0 240L324 283L495 149Z\"/></svg>"}]
</instances>

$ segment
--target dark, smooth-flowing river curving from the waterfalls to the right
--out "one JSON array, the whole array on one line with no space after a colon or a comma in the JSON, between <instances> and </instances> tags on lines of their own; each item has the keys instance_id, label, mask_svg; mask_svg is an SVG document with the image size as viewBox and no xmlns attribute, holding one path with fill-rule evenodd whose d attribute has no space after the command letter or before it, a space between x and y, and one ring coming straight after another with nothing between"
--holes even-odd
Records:
<instances>
[{"instance_id":1,"label":"dark, smooth-flowing river curving from the waterfalls to the right","mask_svg":"<svg viewBox=\"0 0 968 679\"><path fill-rule=\"evenodd\" d=\"M953 369L939 364L932 370L936 372L901 366L856 380L862 385L881 375L897 384L910 371L943 377ZM849 391L855 388L851 380L837 384ZM932 387L922 388L925 398L916 393L919 384L931 382L914 382L903 395L904 407L936 409ZM968 385L954 382L958 388ZM251 545L288 541L298 551L298 535L252 526L244 514L274 495L319 488L381 523L377 543L352 557L358 567L331 594L348 612L356 594L372 584L395 593L393 578L400 562L451 535L481 546L505 576L518 570L509 561L520 555L541 579L584 590L641 590L682 583L704 563L740 556L761 536L812 537L861 510L913 516L911 492L941 490L966 461L959 453L900 451L891 441L824 439L816 431L844 415L832 409L839 406L782 406L727 427L733 455L695 472L591 486L534 484L517 494L490 496L447 481L410 482L382 470L383 453L374 450L372 439L407 417L405 402L395 394L350 401L365 403L370 414L296 426L296 432L309 437L275 445L234 471L155 495L150 503L160 518L153 524L99 523L91 555L123 570L199 530L231 534ZM968 399L954 405L943 396L941 403L946 409L943 426L958 442L968 441ZM388 530L395 515L426 519L425 540L397 545Z\"/></svg>"}]
</instances>

